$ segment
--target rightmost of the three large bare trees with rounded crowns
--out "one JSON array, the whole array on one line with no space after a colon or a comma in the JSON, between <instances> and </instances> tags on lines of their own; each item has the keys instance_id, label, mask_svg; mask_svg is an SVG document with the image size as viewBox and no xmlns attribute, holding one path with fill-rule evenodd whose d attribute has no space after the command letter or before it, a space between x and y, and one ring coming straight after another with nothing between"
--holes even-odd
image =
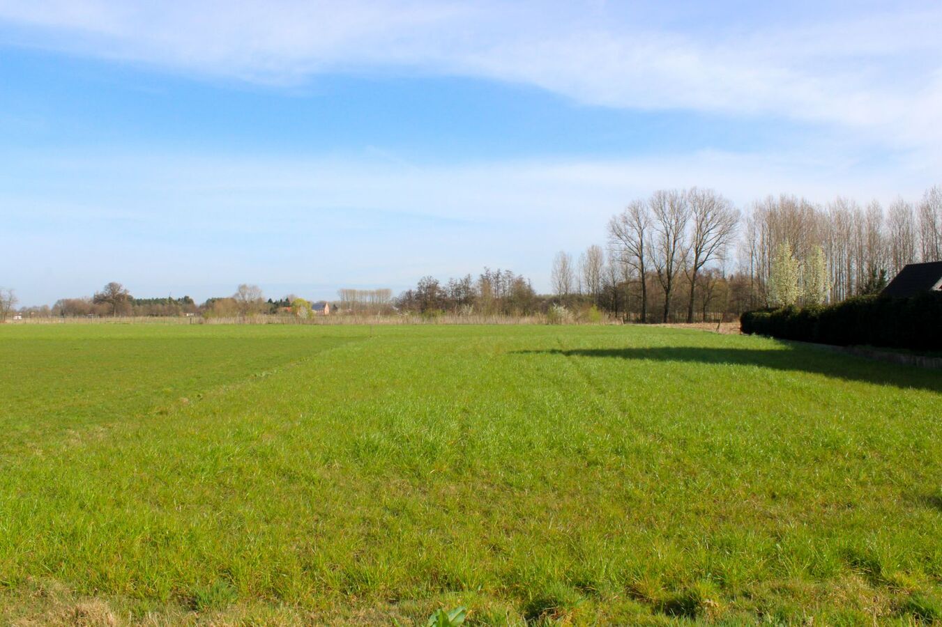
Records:
<instances>
[{"instance_id":1,"label":"rightmost of the three large bare trees with rounded crowns","mask_svg":"<svg viewBox=\"0 0 942 627\"><path fill-rule=\"evenodd\" d=\"M693 233L690 241L690 265L685 266L684 271L690 281L687 322L693 322L697 274L733 241L739 225L739 211L733 207L732 202L712 189L694 187L688 192L688 200L693 218Z\"/></svg>"}]
</instances>

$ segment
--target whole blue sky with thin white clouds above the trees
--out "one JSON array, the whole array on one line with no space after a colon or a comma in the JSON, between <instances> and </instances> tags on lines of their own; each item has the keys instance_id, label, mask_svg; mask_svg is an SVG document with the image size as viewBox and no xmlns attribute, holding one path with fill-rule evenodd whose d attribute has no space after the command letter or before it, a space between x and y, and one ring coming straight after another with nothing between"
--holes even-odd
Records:
<instances>
[{"instance_id":1,"label":"whole blue sky with thin white clouds above the trees","mask_svg":"<svg viewBox=\"0 0 942 627\"><path fill-rule=\"evenodd\" d=\"M937 0L0 0L0 285L548 291L658 188L918 200L939 33Z\"/></svg>"}]
</instances>

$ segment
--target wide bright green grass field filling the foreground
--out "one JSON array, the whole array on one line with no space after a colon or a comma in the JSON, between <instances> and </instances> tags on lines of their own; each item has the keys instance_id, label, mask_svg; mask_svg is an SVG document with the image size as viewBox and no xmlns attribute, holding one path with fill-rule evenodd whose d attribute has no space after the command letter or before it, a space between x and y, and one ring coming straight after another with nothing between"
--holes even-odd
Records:
<instances>
[{"instance_id":1,"label":"wide bright green grass field filling the foreground","mask_svg":"<svg viewBox=\"0 0 942 627\"><path fill-rule=\"evenodd\" d=\"M642 327L0 327L0 621L942 620L942 373Z\"/></svg>"}]
</instances>

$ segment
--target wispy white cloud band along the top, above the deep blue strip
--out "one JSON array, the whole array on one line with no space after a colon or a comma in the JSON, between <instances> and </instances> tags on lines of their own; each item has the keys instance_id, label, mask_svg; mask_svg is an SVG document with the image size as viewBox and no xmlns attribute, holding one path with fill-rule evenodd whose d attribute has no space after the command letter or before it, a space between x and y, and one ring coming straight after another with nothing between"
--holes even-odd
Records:
<instances>
[{"instance_id":1,"label":"wispy white cloud band along the top, above the deep blue strip","mask_svg":"<svg viewBox=\"0 0 942 627\"><path fill-rule=\"evenodd\" d=\"M942 137L937 3L816 5L817 22L710 6L723 24L590 2L0 0L0 23L8 41L250 81L463 74L583 104L821 121L907 146Z\"/></svg>"}]
</instances>

